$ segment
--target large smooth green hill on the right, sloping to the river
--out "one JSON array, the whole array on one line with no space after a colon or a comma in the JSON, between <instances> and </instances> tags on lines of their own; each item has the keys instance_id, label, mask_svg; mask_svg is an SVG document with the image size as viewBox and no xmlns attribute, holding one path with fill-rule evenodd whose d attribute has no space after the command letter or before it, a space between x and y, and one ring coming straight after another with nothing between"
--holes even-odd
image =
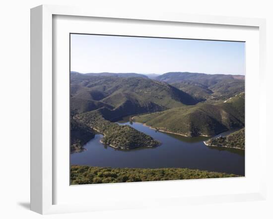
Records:
<instances>
[{"instance_id":1,"label":"large smooth green hill on the right, sloping to the river","mask_svg":"<svg viewBox=\"0 0 273 219\"><path fill-rule=\"evenodd\" d=\"M225 130L244 127L244 93L218 104L199 103L171 110L135 116L137 122L146 123L162 131L185 136L211 136Z\"/></svg>"}]
</instances>

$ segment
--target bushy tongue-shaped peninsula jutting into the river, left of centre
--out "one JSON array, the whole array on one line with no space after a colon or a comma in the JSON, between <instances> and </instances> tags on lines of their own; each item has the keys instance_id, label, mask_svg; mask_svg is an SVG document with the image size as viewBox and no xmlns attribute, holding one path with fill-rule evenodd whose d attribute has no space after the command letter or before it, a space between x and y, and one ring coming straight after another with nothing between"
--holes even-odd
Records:
<instances>
[{"instance_id":1,"label":"bushy tongue-shaped peninsula jutting into the river, left of centre","mask_svg":"<svg viewBox=\"0 0 273 219\"><path fill-rule=\"evenodd\" d=\"M98 110L77 114L77 122L104 134L102 143L117 149L128 150L138 147L155 147L160 142L137 131L129 125L118 125L103 118Z\"/></svg>"}]
</instances>

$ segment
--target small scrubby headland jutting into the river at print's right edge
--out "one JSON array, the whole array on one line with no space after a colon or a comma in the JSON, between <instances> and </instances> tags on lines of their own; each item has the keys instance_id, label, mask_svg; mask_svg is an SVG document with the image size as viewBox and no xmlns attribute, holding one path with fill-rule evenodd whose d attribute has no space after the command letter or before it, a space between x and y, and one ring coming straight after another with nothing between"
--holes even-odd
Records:
<instances>
[{"instance_id":1,"label":"small scrubby headland jutting into the river at print's right edge","mask_svg":"<svg viewBox=\"0 0 273 219\"><path fill-rule=\"evenodd\" d=\"M205 142L207 146L245 149L245 128L225 137L212 138Z\"/></svg>"}]
</instances>

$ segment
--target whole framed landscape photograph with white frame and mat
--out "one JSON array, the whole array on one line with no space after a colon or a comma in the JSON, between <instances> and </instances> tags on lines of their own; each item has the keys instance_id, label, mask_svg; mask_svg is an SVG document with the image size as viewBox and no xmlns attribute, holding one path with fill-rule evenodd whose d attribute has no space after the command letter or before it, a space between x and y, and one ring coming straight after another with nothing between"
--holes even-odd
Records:
<instances>
[{"instance_id":1,"label":"whole framed landscape photograph with white frame and mat","mask_svg":"<svg viewBox=\"0 0 273 219\"><path fill-rule=\"evenodd\" d=\"M263 19L32 8L31 210L265 199L265 47Z\"/></svg>"}]
</instances>

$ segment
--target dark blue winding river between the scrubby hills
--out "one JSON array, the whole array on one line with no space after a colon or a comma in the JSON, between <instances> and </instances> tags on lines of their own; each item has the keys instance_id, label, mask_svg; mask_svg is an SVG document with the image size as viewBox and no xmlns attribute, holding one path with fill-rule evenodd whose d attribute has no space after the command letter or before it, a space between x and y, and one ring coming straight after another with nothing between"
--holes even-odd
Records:
<instances>
[{"instance_id":1,"label":"dark blue winding river between the scrubby hills","mask_svg":"<svg viewBox=\"0 0 273 219\"><path fill-rule=\"evenodd\" d=\"M209 137L190 138L155 131L142 123L129 122L128 117L117 123L130 125L162 144L155 148L122 151L100 143L103 135L96 134L95 138L84 146L86 151L70 155L70 164L136 168L183 167L245 175L243 150L207 147L203 141ZM233 131L220 135L225 136L231 132Z\"/></svg>"}]
</instances>

